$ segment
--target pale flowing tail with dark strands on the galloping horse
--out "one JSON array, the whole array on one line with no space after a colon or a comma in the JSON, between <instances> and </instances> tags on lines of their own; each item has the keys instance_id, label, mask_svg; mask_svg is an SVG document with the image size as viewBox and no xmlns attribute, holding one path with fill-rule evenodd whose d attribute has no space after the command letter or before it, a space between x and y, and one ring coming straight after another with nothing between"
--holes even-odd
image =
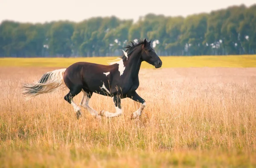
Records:
<instances>
[{"instance_id":1,"label":"pale flowing tail with dark strands on the galloping horse","mask_svg":"<svg viewBox=\"0 0 256 168\"><path fill-rule=\"evenodd\" d=\"M51 72L46 72L37 82L34 81L33 84L24 84L22 87L23 95L26 99L38 96L43 93L50 93L57 89L57 87L64 84L63 75L65 69L54 70Z\"/></svg>"}]
</instances>

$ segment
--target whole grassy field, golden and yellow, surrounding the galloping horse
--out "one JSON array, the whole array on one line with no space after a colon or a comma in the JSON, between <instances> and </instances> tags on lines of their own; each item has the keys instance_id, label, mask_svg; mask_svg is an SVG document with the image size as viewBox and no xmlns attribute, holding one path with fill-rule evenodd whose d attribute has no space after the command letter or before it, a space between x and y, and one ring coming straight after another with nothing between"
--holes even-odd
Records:
<instances>
[{"instance_id":1,"label":"whole grassy field, golden and yellow, surrounding the galloping horse","mask_svg":"<svg viewBox=\"0 0 256 168\"><path fill-rule=\"evenodd\" d=\"M143 64L137 93L147 106L122 99L122 116L101 121L67 90L23 99L23 83L76 61L113 58L0 59L0 167L255 167L256 56L162 57ZM147 69L149 68L149 69ZM79 104L82 94L74 98ZM93 109L114 112L94 94Z\"/></svg>"}]
</instances>

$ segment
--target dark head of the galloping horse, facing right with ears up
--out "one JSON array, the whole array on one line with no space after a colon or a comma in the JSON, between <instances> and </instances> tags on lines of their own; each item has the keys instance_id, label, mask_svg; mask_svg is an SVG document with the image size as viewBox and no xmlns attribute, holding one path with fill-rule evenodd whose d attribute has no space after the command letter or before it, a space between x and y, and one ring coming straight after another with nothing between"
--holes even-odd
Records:
<instances>
[{"instance_id":1,"label":"dark head of the galloping horse, facing right with ears up","mask_svg":"<svg viewBox=\"0 0 256 168\"><path fill-rule=\"evenodd\" d=\"M148 42L146 39L142 44L141 59L146 61L148 64L154 65L155 68L162 67L162 61L159 56L155 53L154 49L150 46L151 40Z\"/></svg>"}]
</instances>

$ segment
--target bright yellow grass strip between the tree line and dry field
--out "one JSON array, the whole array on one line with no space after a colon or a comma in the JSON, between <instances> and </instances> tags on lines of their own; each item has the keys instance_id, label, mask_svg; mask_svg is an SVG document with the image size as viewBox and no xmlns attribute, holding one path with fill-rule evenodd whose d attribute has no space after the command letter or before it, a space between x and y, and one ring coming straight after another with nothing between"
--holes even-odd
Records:
<instances>
[{"instance_id":1,"label":"bright yellow grass strip between the tree line and dry field","mask_svg":"<svg viewBox=\"0 0 256 168\"><path fill-rule=\"evenodd\" d=\"M93 58L0 58L0 67L68 67L78 61L107 64L117 57ZM169 67L256 67L256 55L160 57ZM143 62L142 68L154 68Z\"/></svg>"}]
</instances>

